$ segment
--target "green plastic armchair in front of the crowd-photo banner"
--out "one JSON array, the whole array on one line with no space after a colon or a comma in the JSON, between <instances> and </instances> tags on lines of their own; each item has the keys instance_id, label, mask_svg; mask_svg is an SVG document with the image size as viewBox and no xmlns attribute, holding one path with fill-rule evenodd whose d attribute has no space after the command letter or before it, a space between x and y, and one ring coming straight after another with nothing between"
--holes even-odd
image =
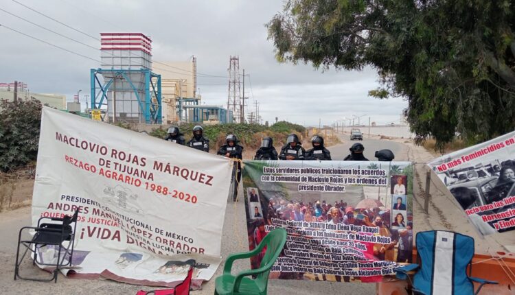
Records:
<instances>
[{"instance_id":1,"label":"green plastic armchair in front of the crowd-photo banner","mask_svg":"<svg viewBox=\"0 0 515 295\"><path fill-rule=\"evenodd\" d=\"M218 276L215 281L215 295L242 295L242 294L266 294L268 286L268 274L281 254L282 248L286 244L286 230L275 228L264 237L261 243L251 252L236 253L229 255L224 266L224 273ZM262 248L266 246L265 255L261 261L260 268L255 270L245 270L236 276L231 274L233 262L237 259L250 258L258 255ZM255 279L246 276L255 275Z\"/></svg>"}]
</instances>

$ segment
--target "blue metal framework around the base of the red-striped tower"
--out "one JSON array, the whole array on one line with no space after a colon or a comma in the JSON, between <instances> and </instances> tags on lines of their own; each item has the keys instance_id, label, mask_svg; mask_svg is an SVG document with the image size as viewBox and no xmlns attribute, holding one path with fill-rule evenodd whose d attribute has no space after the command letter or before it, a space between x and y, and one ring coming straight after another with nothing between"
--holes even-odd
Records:
<instances>
[{"instance_id":1,"label":"blue metal framework around the base of the red-striped tower","mask_svg":"<svg viewBox=\"0 0 515 295\"><path fill-rule=\"evenodd\" d=\"M114 78L100 82L98 75L108 73L113 75ZM145 75L144 88L137 88L130 80L128 74L141 73ZM161 75L152 73L150 69L91 69L90 71L90 84L91 84L91 109L100 108L104 104L104 99L107 103L107 93L109 88L113 85L115 79L124 79L130 88L120 89L117 91L134 92L139 108L142 111L147 124L160 124L162 121L162 102L161 102ZM154 81L156 83L154 83ZM140 97L139 93L143 92L145 97ZM152 102L152 96L155 97L156 102ZM102 118L102 121L104 118Z\"/></svg>"}]
</instances>

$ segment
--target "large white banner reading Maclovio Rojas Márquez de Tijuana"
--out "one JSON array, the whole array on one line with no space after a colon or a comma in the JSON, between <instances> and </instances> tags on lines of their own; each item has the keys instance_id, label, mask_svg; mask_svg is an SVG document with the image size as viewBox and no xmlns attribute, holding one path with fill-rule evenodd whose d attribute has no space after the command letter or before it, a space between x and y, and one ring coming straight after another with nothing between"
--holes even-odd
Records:
<instances>
[{"instance_id":1,"label":"large white banner reading Maclovio Rojas M\u00e1rquez de Tijuana","mask_svg":"<svg viewBox=\"0 0 515 295\"><path fill-rule=\"evenodd\" d=\"M199 283L220 263L230 178L222 157L43 108L32 223L80 209L76 276L170 286L194 265Z\"/></svg>"}]
</instances>

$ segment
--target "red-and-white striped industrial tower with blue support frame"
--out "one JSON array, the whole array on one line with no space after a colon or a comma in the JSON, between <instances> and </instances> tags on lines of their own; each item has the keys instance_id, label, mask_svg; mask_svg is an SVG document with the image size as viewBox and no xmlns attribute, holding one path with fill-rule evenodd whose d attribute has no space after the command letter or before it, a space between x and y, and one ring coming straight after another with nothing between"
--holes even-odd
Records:
<instances>
[{"instance_id":1,"label":"red-and-white striped industrial tower with blue support frame","mask_svg":"<svg viewBox=\"0 0 515 295\"><path fill-rule=\"evenodd\" d=\"M159 124L161 75L152 73L152 40L140 33L101 33L100 69L91 69L91 110L103 121Z\"/></svg>"}]
</instances>

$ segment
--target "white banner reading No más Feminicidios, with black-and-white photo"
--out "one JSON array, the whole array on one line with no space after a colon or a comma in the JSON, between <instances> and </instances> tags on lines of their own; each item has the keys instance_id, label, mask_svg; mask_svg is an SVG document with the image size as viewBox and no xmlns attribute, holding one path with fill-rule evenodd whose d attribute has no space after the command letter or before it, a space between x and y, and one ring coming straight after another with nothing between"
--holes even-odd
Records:
<instances>
[{"instance_id":1,"label":"white banner reading No m\u00e1s Feminicidios, with black-and-white photo","mask_svg":"<svg viewBox=\"0 0 515 295\"><path fill-rule=\"evenodd\" d=\"M515 132L428 163L483 235L515 229ZM505 240L515 244L513 233Z\"/></svg>"}]
</instances>

